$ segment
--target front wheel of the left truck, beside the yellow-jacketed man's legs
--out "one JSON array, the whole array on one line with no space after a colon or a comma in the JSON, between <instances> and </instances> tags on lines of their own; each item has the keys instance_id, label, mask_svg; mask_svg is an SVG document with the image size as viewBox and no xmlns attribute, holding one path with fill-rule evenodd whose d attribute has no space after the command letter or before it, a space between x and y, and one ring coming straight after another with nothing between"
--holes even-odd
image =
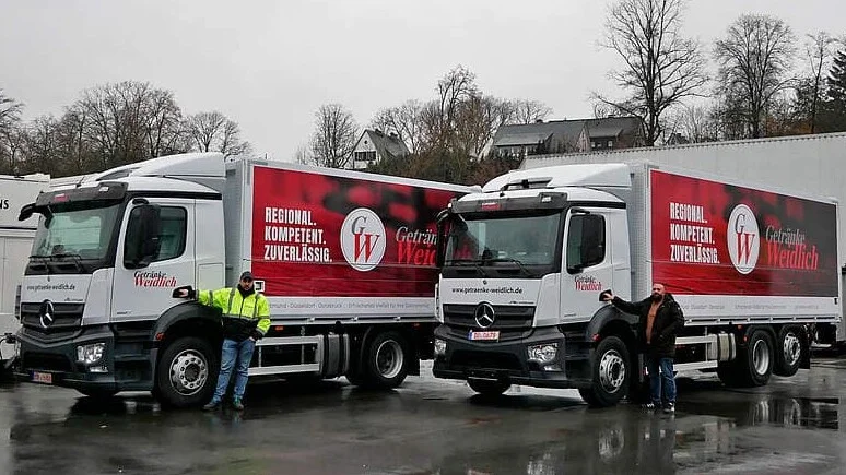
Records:
<instances>
[{"instance_id":1,"label":"front wheel of the left truck, beside the yellow-jacketed man's legs","mask_svg":"<svg viewBox=\"0 0 846 475\"><path fill-rule=\"evenodd\" d=\"M218 353L209 342L196 336L177 339L158 357L153 394L173 407L204 404L214 394L219 372Z\"/></svg>"}]
</instances>

